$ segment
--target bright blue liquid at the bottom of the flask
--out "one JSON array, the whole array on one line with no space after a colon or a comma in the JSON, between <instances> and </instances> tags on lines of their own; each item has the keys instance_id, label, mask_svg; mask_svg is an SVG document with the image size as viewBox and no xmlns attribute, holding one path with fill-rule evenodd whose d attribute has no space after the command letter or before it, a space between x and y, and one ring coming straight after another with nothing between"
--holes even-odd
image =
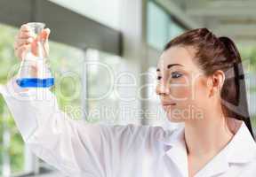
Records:
<instances>
[{"instance_id":1,"label":"bright blue liquid at the bottom of the flask","mask_svg":"<svg viewBox=\"0 0 256 177\"><path fill-rule=\"evenodd\" d=\"M21 88L49 88L54 85L54 78L22 78L18 79L16 82Z\"/></svg>"}]
</instances>

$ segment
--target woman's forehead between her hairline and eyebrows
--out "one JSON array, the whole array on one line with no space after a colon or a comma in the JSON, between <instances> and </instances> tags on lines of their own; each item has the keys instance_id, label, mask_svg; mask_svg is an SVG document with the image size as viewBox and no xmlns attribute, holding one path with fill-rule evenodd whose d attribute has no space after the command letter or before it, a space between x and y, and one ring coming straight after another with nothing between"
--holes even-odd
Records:
<instances>
[{"instance_id":1,"label":"woman's forehead between her hairline and eyebrows","mask_svg":"<svg viewBox=\"0 0 256 177\"><path fill-rule=\"evenodd\" d=\"M195 50L188 47L171 47L165 50L159 58L157 69L166 70L170 68L170 65L193 69L195 63L193 58L195 56ZM195 68L194 68L195 69Z\"/></svg>"}]
</instances>

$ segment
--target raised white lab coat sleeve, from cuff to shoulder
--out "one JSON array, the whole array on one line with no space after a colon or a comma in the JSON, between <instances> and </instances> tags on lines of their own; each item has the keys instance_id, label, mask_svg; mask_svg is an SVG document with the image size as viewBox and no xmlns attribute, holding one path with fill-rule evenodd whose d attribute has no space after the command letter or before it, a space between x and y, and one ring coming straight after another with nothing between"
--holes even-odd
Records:
<instances>
[{"instance_id":1,"label":"raised white lab coat sleeve, from cuff to shoulder","mask_svg":"<svg viewBox=\"0 0 256 177\"><path fill-rule=\"evenodd\" d=\"M37 157L68 176L111 176L127 150L152 140L146 138L149 127L69 119L49 89L21 89L15 78L0 91L24 142Z\"/></svg>"}]
</instances>

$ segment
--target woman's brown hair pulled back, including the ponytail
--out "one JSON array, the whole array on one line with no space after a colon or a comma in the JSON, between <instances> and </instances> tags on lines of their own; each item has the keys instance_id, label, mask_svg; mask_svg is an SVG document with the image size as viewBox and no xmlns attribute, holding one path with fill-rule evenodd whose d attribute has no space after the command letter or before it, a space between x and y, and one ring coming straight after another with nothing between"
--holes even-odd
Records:
<instances>
[{"instance_id":1,"label":"woman's brown hair pulled back, including the ponytail","mask_svg":"<svg viewBox=\"0 0 256 177\"><path fill-rule=\"evenodd\" d=\"M198 28L174 38L164 50L177 45L196 49L196 62L205 75L209 76L217 70L225 73L220 92L222 110L228 117L243 120L253 137L244 70L235 43L228 37L216 37L207 28Z\"/></svg>"}]
</instances>

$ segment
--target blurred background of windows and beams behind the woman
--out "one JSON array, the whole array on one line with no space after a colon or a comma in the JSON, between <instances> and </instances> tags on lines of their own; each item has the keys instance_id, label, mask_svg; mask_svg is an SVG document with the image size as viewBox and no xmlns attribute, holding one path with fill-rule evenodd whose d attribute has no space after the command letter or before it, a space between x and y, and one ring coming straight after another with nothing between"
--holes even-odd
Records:
<instances>
[{"instance_id":1,"label":"blurred background of windows and beams behind the woman","mask_svg":"<svg viewBox=\"0 0 256 177\"><path fill-rule=\"evenodd\" d=\"M70 118L175 128L154 92L157 59L173 37L208 27L231 37L243 56L255 130L255 9L254 0L0 0L0 84L20 66L13 54L19 27L42 21L52 30L52 91ZM2 96L0 176L61 176L23 143Z\"/></svg>"}]
</instances>

